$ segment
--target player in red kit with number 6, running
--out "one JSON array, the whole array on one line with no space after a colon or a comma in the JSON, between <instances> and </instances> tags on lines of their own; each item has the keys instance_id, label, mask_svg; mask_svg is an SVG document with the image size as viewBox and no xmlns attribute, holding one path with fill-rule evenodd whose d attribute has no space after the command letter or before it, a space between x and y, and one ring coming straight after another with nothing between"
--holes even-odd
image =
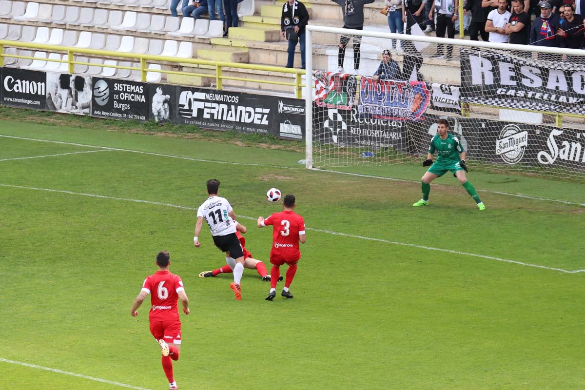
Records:
<instances>
[{"instance_id":1,"label":"player in red kit with number 6, running","mask_svg":"<svg viewBox=\"0 0 585 390\"><path fill-rule=\"evenodd\" d=\"M167 376L170 390L177 389L177 382L173 376L173 360L179 359L181 349L181 321L177 307L178 299L181 299L183 312L189 314L189 299L185 294L183 281L179 275L171 274L168 266L171 264L167 251L160 251L156 256L156 264L159 271L144 279L140 294L134 300L130 315L136 317L136 311L146 296L150 295L152 304L149 313L150 333L159 343L161 363L164 374Z\"/></svg>"}]
</instances>

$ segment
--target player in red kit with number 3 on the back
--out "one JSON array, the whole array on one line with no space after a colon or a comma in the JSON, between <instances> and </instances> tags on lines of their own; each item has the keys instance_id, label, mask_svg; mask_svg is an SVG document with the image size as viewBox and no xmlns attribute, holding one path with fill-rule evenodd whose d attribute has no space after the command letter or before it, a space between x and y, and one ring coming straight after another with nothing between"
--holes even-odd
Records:
<instances>
[{"instance_id":1,"label":"player in red kit with number 3 on the back","mask_svg":"<svg viewBox=\"0 0 585 390\"><path fill-rule=\"evenodd\" d=\"M282 296L292 298L288 290L292 283L295 273L297 273L297 263L301 258L301 249L299 241L304 244L305 237L305 220L302 216L294 212L296 205L294 195L286 195L283 199L284 211L274 213L264 219L258 217L258 227L272 225L272 249L270 250L270 293L266 301L272 301L276 296L276 284L280 277L280 266L286 263L288 265L287 277L284 281Z\"/></svg>"}]
</instances>

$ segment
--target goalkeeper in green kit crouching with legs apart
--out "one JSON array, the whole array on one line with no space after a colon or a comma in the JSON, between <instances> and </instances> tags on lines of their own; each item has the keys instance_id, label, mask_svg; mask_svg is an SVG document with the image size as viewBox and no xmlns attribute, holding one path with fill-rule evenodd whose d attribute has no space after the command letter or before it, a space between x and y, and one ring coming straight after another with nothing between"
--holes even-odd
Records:
<instances>
[{"instance_id":1,"label":"goalkeeper in green kit crouching with legs apart","mask_svg":"<svg viewBox=\"0 0 585 390\"><path fill-rule=\"evenodd\" d=\"M431 146L426 154L426 160L422 163L423 167L431 165L428 171L422 175L421 188L422 199L413 206L426 206L429 204L429 192L431 192L431 182L438 177L444 175L447 171L453 172L453 176L459 180L467 194L473 198L480 210L485 210L483 202L480 201L479 196L473 185L467 181L465 172L467 172L467 165L465 164L465 151L463 146L459 143L459 138L450 134L449 122L446 119L439 119L437 121L437 134L431 140ZM433 164L433 153L437 152L437 160Z\"/></svg>"}]
</instances>

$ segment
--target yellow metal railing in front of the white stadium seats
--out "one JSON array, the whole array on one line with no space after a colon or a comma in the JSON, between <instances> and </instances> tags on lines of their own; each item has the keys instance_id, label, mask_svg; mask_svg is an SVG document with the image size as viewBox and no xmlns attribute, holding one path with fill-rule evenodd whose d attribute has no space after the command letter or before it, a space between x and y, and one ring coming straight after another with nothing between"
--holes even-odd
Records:
<instances>
[{"instance_id":1,"label":"yellow metal railing in front of the white stadium seats","mask_svg":"<svg viewBox=\"0 0 585 390\"><path fill-rule=\"evenodd\" d=\"M18 47L18 48L25 48L25 49L36 49L40 51L50 51L51 53L54 52L66 52L67 53L67 60L56 60L53 58L35 58L29 56L19 56L18 54L8 54L4 53L4 47ZM133 58L134 60L140 61L140 67L125 67L121 65L109 65L109 64L94 64L88 63L83 61L75 61L74 56L78 54L90 54L92 56L108 56L108 57L121 57L121 58ZM197 58L177 58L177 57L164 57L164 56L153 56L152 54L135 54L135 53L120 53L118 51L108 51L108 50L95 50L95 49L81 49L79 47L67 47L67 46L56 46L50 44L40 44L40 43L30 43L30 42L18 42L18 41L11 41L11 40L0 40L0 67L4 66L4 58L11 57L11 58L26 58L31 60L42 60L42 61L51 61L51 62L59 62L59 63L67 63L68 70L70 74L74 73L74 65L90 65L90 66L98 66L104 68L116 68L116 69L130 69L130 70L140 70L140 78L142 81L146 82L146 73L147 72L154 72L154 73L166 73L166 74L178 74L178 75L187 75L187 76L195 76L195 77L215 77L216 80L216 88L221 90L223 88L223 80L235 80L235 81L243 81L243 82L259 82L262 84L273 84L273 85L284 85L287 87L294 87L295 96L297 98L302 97L302 75L305 74L304 70L301 69L292 69L292 68L284 68L284 67L277 67L277 66L270 66L270 65L255 65L255 64L240 64L240 63L228 63L223 61L209 61L209 60L199 60ZM158 70L158 69L149 69L148 62L150 63L160 63L160 62L167 62L167 63L177 63L177 64L190 64L190 65L199 65L203 67L209 67L209 70L215 70L214 74L206 74L206 73L191 73L186 71L170 71L170 70ZM265 72L275 72L275 73L283 73L283 74L292 74L294 75L294 81L270 81L270 80L263 80L262 78L247 78L247 77L228 77L223 75L225 72L225 68L236 68L236 69L250 69L250 70L257 70L257 71L265 71Z\"/></svg>"}]
</instances>

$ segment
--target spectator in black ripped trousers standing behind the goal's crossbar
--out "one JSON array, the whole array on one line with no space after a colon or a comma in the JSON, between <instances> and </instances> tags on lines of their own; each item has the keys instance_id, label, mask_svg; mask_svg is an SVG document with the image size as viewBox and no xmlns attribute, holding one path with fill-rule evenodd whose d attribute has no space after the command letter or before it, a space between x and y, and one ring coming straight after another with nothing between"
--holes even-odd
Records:
<instances>
[{"instance_id":1,"label":"spectator in black ripped trousers standing behind the goal's crossbar","mask_svg":"<svg viewBox=\"0 0 585 390\"><path fill-rule=\"evenodd\" d=\"M332 0L339 4L343 12L343 28L352 30L364 29L364 5L371 4L374 0ZM339 40L339 51L337 57L339 73L343 72L343 61L345 61L345 48L353 39L353 73L357 74L360 68L360 46L361 36L342 35Z\"/></svg>"}]
</instances>

